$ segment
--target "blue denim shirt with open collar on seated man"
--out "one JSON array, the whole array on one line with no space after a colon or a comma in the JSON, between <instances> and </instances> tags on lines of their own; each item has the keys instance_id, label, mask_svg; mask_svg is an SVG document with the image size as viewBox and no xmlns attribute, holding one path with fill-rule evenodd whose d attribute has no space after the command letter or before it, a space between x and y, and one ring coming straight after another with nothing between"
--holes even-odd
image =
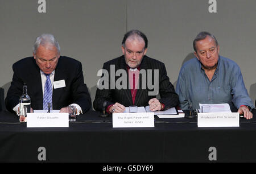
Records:
<instances>
[{"instance_id":1,"label":"blue denim shirt with open collar on seated man","mask_svg":"<svg viewBox=\"0 0 256 174\"><path fill-rule=\"evenodd\" d=\"M229 103L230 109L241 105L254 108L243 82L240 67L230 59L219 56L216 71L209 81L197 58L187 61L180 69L176 85L181 109L200 109L199 103Z\"/></svg>"}]
</instances>

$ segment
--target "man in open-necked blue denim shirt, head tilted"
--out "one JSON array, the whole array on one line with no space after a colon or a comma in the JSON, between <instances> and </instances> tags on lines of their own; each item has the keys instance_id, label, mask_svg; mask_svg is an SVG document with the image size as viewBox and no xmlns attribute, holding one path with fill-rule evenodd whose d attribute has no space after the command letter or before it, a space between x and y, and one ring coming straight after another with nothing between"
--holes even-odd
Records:
<instances>
[{"instance_id":1,"label":"man in open-necked blue denim shirt, head tilted","mask_svg":"<svg viewBox=\"0 0 256 174\"><path fill-rule=\"evenodd\" d=\"M253 118L254 108L238 65L219 55L220 45L209 32L200 32L193 41L196 58L180 69L176 93L181 109L199 109L199 103L229 103L246 119Z\"/></svg>"}]
</instances>

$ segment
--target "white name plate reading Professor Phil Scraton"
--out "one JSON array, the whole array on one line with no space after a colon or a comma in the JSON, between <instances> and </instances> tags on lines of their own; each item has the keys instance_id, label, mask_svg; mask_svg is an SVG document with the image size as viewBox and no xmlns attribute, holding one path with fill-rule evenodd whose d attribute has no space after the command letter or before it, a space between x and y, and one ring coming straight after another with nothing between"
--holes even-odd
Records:
<instances>
[{"instance_id":1,"label":"white name plate reading Professor Phil Scraton","mask_svg":"<svg viewBox=\"0 0 256 174\"><path fill-rule=\"evenodd\" d=\"M198 113L198 127L239 127L239 113Z\"/></svg>"}]
</instances>

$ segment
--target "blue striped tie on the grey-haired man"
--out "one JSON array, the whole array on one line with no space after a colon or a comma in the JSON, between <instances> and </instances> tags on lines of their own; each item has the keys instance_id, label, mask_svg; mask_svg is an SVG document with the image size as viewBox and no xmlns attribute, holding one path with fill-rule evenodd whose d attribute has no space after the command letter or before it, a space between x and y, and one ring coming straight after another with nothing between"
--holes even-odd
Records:
<instances>
[{"instance_id":1,"label":"blue striped tie on the grey-haired man","mask_svg":"<svg viewBox=\"0 0 256 174\"><path fill-rule=\"evenodd\" d=\"M46 85L44 85L44 99L43 99L43 109L48 110L48 103L52 106L52 83L49 78L50 74L46 75Z\"/></svg>"}]
</instances>

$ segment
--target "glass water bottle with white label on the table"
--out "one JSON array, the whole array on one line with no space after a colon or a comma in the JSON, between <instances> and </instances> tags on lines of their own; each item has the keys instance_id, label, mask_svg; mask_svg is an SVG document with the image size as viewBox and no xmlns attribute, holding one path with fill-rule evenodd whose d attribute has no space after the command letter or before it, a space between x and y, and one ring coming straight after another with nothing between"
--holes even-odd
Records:
<instances>
[{"instance_id":1,"label":"glass water bottle with white label on the table","mask_svg":"<svg viewBox=\"0 0 256 174\"><path fill-rule=\"evenodd\" d=\"M27 94L27 85L23 85L22 96L19 98L19 121L26 122L27 113L30 113L30 96Z\"/></svg>"}]
</instances>

